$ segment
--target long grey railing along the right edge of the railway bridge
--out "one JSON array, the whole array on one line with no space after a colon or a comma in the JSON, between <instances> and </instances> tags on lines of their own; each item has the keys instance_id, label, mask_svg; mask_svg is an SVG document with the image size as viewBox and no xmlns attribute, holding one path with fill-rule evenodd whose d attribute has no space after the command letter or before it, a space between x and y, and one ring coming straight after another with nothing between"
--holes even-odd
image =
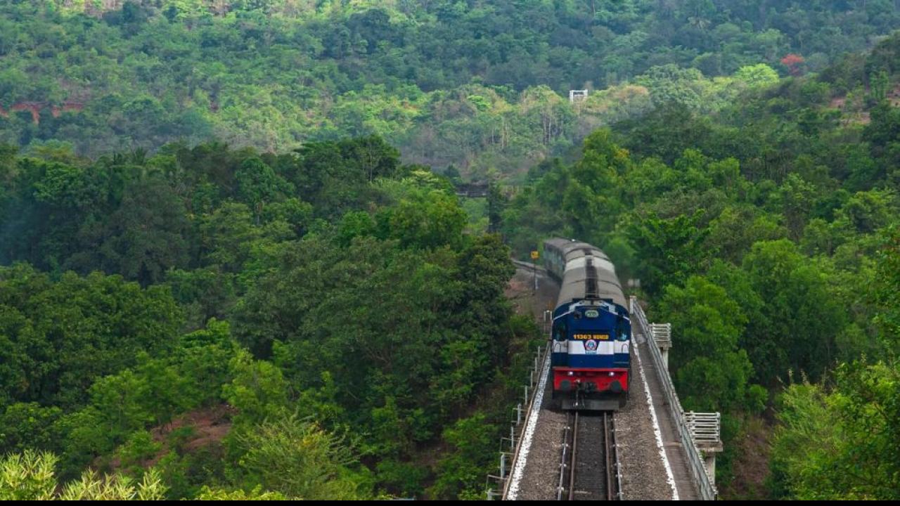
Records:
<instances>
[{"instance_id":1,"label":"long grey railing along the right edge of the railway bridge","mask_svg":"<svg viewBox=\"0 0 900 506\"><path fill-rule=\"evenodd\" d=\"M688 423L684 417L684 410L681 409L678 393L675 392L675 385L672 384L671 376L667 372L660 349L655 344L656 339L653 336L653 326L647 322L644 309L641 308L641 304L638 303L637 297L634 296L631 297L631 321L633 329L634 323L636 322L641 333L644 334L644 337L651 339L650 346L647 348L650 348L650 357L651 360L653 360L653 366L660 372L662 394L665 396L666 403L669 406L671 419L675 421L675 425L678 428L681 446L684 447L685 454L688 456L688 467L690 469L690 474L694 477L694 481L698 485L700 499L704 501L715 501L716 495L718 494L718 492L716 492L716 485L714 485L713 481L710 479L709 474L707 473L707 466L703 463L703 456L700 455L700 450L694 442L694 438L691 436ZM632 333L634 334L634 332Z\"/></svg>"}]
</instances>

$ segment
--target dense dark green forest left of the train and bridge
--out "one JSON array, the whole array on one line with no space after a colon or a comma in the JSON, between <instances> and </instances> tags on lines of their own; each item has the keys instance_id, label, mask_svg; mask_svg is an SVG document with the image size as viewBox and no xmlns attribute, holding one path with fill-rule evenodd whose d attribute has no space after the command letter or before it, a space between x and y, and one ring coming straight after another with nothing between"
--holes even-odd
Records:
<instances>
[{"instance_id":1,"label":"dense dark green forest left of the train and bridge","mask_svg":"<svg viewBox=\"0 0 900 506\"><path fill-rule=\"evenodd\" d=\"M429 493L479 491L492 447L421 448L464 445L489 394L473 420L498 436L533 330L446 179L378 137L0 160L0 452L65 479L152 465L169 498L419 495L456 468Z\"/></svg>"}]
</instances>

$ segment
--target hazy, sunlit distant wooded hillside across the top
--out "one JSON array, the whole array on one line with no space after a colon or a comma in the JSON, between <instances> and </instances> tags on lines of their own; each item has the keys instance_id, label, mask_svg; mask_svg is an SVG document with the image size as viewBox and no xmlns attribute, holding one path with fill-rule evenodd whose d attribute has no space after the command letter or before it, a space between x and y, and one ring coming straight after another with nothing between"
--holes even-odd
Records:
<instances>
[{"instance_id":1,"label":"hazy, sunlit distant wooded hillside across the top","mask_svg":"<svg viewBox=\"0 0 900 506\"><path fill-rule=\"evenodd\" d=\"M411 161L512 172L651 99L712 109L774 75L757 64L819 70L898 23L889 0L5 2L0 141L378 134ZM572 88L599 93L572 106Z\"/></svg>"}]
</instances>

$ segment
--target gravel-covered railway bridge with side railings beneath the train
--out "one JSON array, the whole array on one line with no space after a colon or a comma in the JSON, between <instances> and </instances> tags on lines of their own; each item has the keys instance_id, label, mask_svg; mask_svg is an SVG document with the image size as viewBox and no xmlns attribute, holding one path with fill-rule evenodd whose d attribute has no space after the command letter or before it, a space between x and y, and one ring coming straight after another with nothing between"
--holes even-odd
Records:
<instances>
[{"instance_id":1,"label":"gravel-covered railway bridge with side railings beneath the train","mask_svg":"<svg viewBox=\"0 0 900 506\"><path fill-rule=\"evenodd\" d=\"M558 286L542 267L517 266L555 301ZM634 379L626 407L578 417L551 410L550 357L540 348L501 441L498 472L488 478L489 499L716 499L719 413L681 409L668 369L671 325L647 321L634 296L629 304ZM540 320L548 334L548 312Z\"/></svg>"}]
</instances>

